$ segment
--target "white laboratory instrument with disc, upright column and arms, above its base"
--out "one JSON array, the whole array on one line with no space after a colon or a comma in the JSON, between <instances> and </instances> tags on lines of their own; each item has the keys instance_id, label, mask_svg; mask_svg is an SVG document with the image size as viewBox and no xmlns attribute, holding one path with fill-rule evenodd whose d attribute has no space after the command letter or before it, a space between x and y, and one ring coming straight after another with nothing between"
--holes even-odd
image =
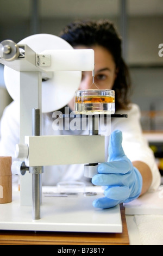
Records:
<instances>
[{"instance_id":1,"label":"white laboratory instrument with disc, upright column and arms, above its base","mask_svg":"<svg viewBox=\"0 0 163 256\"><path fill-rule=\"evenodd\" d=\"M20 144L16 147L20 161L13 164L14 172L21 174L20 204L32 205L33 220L40 220L43 166L76 163L94 166L105 161L104 136L95 129L95 116L89 119L93 120L89 121L89 135L41 135L41 114L56 111L72 99L79 87L81 71L94 69L94 53L74 50L63 39L49 34L28 36L18 44L4 40L0 46L6 87L12 99L20 104ZM111 99L114 100L112 96ZM110 109L111 114L114 110ZM118 214L116 219L122 230Z\"/></svg>"}]
</instances>

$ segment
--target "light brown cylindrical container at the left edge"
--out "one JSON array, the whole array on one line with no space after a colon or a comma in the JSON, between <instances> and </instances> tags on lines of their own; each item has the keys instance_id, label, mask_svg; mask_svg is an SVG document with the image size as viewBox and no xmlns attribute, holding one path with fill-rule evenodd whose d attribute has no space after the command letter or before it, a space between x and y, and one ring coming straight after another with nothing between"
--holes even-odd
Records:
<instances>
[{"instance_id":1,"label":"light brown cylindrical container at the left edge","mask_svg":"<svg viewBox=\"0 0 163 256\"><path fill-rule=\"evenodd\" d=\"M11 156L0 156L0 204L12 202Z\"/></svg>"}]
</instances>

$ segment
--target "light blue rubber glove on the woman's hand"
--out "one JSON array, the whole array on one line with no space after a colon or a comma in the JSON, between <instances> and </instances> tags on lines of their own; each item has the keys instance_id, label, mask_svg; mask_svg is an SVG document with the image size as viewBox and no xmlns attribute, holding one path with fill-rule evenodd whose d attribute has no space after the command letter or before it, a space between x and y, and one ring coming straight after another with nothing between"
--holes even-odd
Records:
<instances>
[{"instance_id":1,"label":"light blue rubber glove on the woman's hand","mask_svg":"<svg viewBox=\"0 0 163 256\"><path fill-rule=\"evenodd\" d=\"M93 206L111 208L140 196L142 176L124 154L121 131L111 133L108 162L99 164L98 173L93 176L92 183L107 187L104 191L105 197L93 201Z\"/></svg>"}]
</instances>

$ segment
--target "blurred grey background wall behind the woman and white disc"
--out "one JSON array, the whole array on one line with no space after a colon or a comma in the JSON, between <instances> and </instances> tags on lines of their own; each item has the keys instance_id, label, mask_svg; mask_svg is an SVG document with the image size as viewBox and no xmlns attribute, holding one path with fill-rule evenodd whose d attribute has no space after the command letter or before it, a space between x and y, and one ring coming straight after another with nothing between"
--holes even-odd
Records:
<instances>
[{"instance_id":1,"label":"blurred grey background wall behind the woman and white disc","mask_svg":"<svg viewBox=\"0 0 163 256\"><path fill-rule=\"evenodd\" d=\"M36 33L58 35L68 22L85 18L115 22L143 130L163 130L163 57L158 54L163 44L162 0L0 0L0 42L18 42ZM10 101L0 65L0 118Z\"/></svg>"}]
</instances>

